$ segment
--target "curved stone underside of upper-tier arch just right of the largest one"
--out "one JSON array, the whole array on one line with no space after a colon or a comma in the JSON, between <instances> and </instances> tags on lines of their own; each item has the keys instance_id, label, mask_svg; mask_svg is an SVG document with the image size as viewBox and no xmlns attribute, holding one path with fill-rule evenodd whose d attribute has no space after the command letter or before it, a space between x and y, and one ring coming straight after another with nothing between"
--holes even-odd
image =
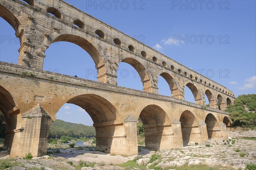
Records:
<instances>
[{"instance_id":1,"label":"curved stone underside of upper-tier arch just right of the largest one","mask_svg":"<svg viewBox=\"0 0 256 170\"><path fill-rule=\"evenodd\" d=\"M119 58L119 63L120 62L125 62L130 64L131 66L134 67L134 69L138 72L141 78L141 82L143 83L143 91L145 92L152 92L152 84L150 80L150 74L148 70L145 69L142 63L135 59L133 56L129 55L127 57L120 57ZM119 65L118 63L118 65Z\"/></svg>"}]
</instances>

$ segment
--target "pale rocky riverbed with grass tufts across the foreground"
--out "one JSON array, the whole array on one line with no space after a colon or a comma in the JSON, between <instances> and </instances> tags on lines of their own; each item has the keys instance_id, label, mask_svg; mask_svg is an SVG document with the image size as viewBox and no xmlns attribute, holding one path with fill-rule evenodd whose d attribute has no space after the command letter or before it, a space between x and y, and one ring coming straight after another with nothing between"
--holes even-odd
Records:
<instances>
[{"instance_id":1,"label":"pale rocky riverbed with grass tufts across the foreground","mask_svg":"<svg viewBox=\"0 0 256 170\"><path fill-rule=\"evenodd\" d=\"M256 170L256 141L235 139L226 144L187 146L150 151L139 147L139 156L117 156L94 147L48 150L49 156L8 158L0 153L0 170ZM253 167L254 165L254 167Z\"/></svg>"}]
</instances>

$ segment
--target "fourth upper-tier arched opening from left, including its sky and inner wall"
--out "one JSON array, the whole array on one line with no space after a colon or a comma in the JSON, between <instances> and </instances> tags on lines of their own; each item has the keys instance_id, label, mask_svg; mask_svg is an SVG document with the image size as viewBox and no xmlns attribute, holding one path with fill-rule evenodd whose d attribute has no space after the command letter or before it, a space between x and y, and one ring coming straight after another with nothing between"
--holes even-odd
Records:
<instances>
[{"instance_id":1,"label":"fourth upper-tier arched opening from left, including its sky and inner wall","mask_svg":"<svg viewBox=\"0 0 256 170\"><path fill-rule=\"evenodd\" d=\"M168 91L169 91L169 90L167 90L165 88L166 86L163 86L162 82L164 82L164 81L162 81L162 82L160 81L161 77L167 82L167 84L169 86L169 89L171 90L170 96L172 96L173 98L177 98L179 96L179 90L177 88L177 84L176 84L174 78L172 78L172 76L169 75L166 72L161 73L160 77L158 78L158 90L159 90L159 93L162 94L162 95L167 95ZM163 87L161 87L161 86L163 86Z\"/></svg>"}]
</instances>

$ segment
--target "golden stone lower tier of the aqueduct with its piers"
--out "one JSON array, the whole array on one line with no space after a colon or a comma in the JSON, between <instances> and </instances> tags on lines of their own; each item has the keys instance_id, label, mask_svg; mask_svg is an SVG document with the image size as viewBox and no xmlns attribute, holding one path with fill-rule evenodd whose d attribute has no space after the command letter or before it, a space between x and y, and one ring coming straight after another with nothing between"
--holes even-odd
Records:
<instances>
[{"instance_id":1,"label":"golden stone lower tier of the aqueduct with its piers","mask_svg":"<svg viewBox=\"0 0 256 170\"><path fill-rule=\"evenodd\" d=\"M65 103L85 109L96 128L96 149L136 155L137 120L145 145L168 150L189 141L227 138L228 113L183 100L67 75L0 63L0 110L6 119L4 146L11 157L47 153L47 136ZM224 122L224 123L223 123Z\"/></svg>"}]
</instances>

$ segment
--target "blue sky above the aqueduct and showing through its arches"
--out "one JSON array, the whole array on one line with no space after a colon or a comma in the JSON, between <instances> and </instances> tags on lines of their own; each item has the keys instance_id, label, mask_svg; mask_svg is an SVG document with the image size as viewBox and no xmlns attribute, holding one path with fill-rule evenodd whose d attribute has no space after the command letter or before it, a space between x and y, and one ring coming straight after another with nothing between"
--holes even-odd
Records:
<instances>
[{"instance_id":1,"label":"blue sky above the aqueduct and showing through its arches","mask_svg":"<svg viewBox=\"0 0 256 170\"><path fill-rule=\"evenodd\" d=\"M175 61L200 72L232 90L236 97L256 93L256 1L90 1L67 3L135 37ZM15 31L0 18L0 61L17 63L19 41ZM75 53L74 53L75 52ZM52 44L46 51L44 70L95 80L93 60L79 46ZM58 61L58 62L57 62ZM207 72L208 70L208 72ZM209 71L210 70L210 71ZM212 71L214 75L211 76ZM207 74L208 73L208 74ZM134 69L119 65L118 85L142 90ZM171 95L163 78L159 92ZM194 102L189 89L185 99ZM92 125L79 107L65 104L57 118Z\"/></svg>"}]
</instances>

